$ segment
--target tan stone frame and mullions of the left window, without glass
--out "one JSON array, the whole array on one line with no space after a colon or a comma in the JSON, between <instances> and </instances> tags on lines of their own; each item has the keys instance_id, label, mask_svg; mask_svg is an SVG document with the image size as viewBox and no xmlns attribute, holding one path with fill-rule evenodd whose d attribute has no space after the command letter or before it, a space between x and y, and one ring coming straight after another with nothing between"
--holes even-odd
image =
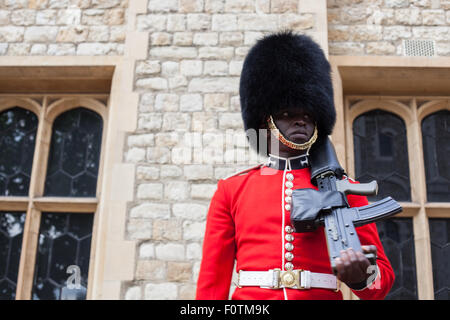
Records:
<instances>
[{"instance_id":1,"label":"tan stone frame and mullions of the left window, without glass","mask_svg":"<svg viewBox=\"0 0 450 320\"><path fill-rule=\"evenodd\" d=\"M0 112L20 107L33 112L38 119L36 143L27 197L1 196L0 211L26 213L22 251L17 278L16 300L32 299L36 254L42 212L94 214L90 261L93 261L99 229L99 203L103 181L106 132L109 117L108 94L0 94ZM103 121L102 145L97 175L96 197L44 197L47 163L54 120L64 112L84 107L96 112ZM91 299L94 263L89 264L86 299ZM68 275L69 276L69 275Z\"/></svg>"}]
</instances>

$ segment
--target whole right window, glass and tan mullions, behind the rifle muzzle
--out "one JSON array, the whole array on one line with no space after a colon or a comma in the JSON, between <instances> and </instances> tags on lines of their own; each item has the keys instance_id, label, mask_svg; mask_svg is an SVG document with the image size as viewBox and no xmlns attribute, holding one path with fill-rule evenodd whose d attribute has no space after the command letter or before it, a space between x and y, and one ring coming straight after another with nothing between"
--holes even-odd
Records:
<instances>
[{"instance_id":1,"label":"whole right window, glass and tan mullions, behind the rifle muzzle","mask_svg":"<svg viewBox=\"0 0 450 320\"><path fill-rule=\"evenodd\" d=\"M386 299L450 296L448 97L347 97L347 156L357 180L377 180L403 212L376 223L395 273ZM353 160L353 161L352 161ZM354 168L354 169L353 169Z\"/></svg>"}]
</instances>

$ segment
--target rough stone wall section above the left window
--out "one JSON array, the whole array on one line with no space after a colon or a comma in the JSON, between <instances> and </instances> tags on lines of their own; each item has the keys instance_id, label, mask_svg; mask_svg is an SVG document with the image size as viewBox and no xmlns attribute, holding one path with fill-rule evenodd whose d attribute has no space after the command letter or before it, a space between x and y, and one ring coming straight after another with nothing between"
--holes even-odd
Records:
<instances>
[{"instance_id":1,"label":"rough stone wall section above the left window","mask_svg":"<svg viewBox=\"0 0 450 320\"><path fill-rule=\"evenodd\" d=\"M122 55L128 0L0 0L0 55Z\"/></svg>"}]
</instances>

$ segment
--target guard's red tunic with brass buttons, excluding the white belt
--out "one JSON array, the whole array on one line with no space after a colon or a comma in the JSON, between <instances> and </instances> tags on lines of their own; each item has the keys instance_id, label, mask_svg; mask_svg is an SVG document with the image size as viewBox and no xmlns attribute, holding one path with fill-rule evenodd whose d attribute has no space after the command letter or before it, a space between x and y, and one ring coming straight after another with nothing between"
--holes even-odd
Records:
<instances>
[{"instance_id":1,"label":"guard's red tunic with brass buttons, excluding the white belt","mask_svg":"<svg viewBox=\"0 0 450 320\"><path fill-rule=\"evenodd\" d=\"M289 171L293 189L315 188L310 169ZM286 172L268 167L254 168L220 180L208 211L203 243L203 259L197 284L197 299L225 300L229 297L232 270L267 271L284 269L286 231L290 213L285 209ZM350 206L368 204L363 196L349 195ZM375 224L358 227L362 245L378 248L377 288L354 293L361 299L383 299L394 282L394 272L384 253ZM294 269L331 274L323 227L309 233L292 233L291 261ZM232 299L342 299L342 293L329 289L236 288Z\"/></svg>"}]
</instances>

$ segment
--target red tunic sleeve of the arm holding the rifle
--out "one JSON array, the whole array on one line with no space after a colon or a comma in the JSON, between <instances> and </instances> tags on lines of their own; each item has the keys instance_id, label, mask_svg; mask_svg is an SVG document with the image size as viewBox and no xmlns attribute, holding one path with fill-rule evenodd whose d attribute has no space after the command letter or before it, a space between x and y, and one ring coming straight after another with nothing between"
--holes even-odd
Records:
<instances>
[{"instance_id":1,"label":"red tunic sleeve of the arm holding the rifle","mask_svg":"<svg viewBox=\"0 0 450 320\"><path fill-rule=\"evenodd\" d=\"M367 198L349 195L350 207L361 207L368 204ZM352 290L363 300L381 300L389 293L394 283L394 271L386 257L375 223L369 223L356 228L361 245L375 245L377 247L377 268L368 270L369 280L373 280L362 290Z\"/></svg>"}]
</instances>

